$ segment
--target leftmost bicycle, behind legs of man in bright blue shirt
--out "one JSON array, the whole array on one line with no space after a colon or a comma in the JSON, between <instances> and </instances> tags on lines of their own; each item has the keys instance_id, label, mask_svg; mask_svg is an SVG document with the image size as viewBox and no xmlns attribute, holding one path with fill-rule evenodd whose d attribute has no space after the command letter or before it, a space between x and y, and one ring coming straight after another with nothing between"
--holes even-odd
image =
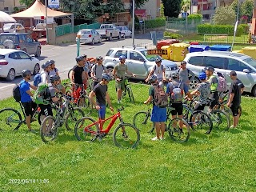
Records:
<instances>
[{"instance_id":1,"label":"leftmost bicycle, behind legs of man in bright blue shirt","mask_svg":"<svg viewBox=\"0 0 256 192\"><path fill-rule=\"evenodd\" d=\"M26 114L24 107L22 106L21 102L18 102L20 109L15 110L14 108L4 108L0 110L0 130L5 130L6 126L10 126L12 130L18 130L18 128L22 125L22 123L26 124ZM22 114L20 111L22 110ZM37 106L33 110L33 114L31 119L34 119L35 116L38 115L38 122L41 123L41 114L40 114L40 107ZM31 121L32 122L32 121ZM7 128L8 129L8 128Z\"/></svg>"}]
</instances>

